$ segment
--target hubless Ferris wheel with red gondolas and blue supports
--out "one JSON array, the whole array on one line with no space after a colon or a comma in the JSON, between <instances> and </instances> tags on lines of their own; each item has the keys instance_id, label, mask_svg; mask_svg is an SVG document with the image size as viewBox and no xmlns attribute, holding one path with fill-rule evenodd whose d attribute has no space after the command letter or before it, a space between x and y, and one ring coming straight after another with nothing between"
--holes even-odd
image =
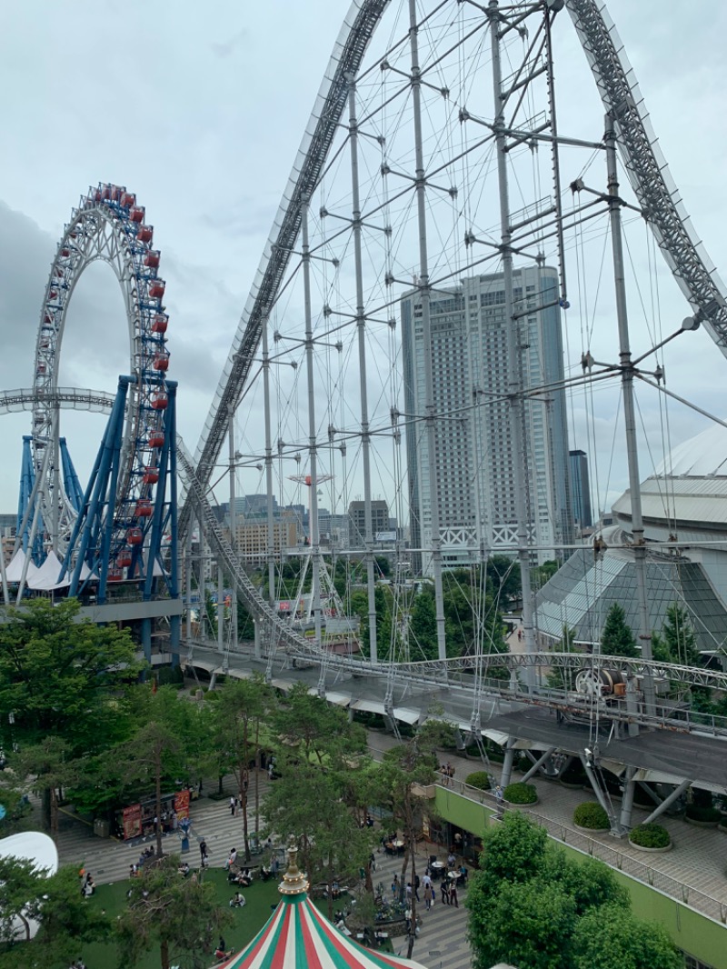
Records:
<instances>
[{"instance_id":1,"label":"hubless Ferris wheel with red gondolas and blue supports","mask_svg":"<svg viewBox=\"0 0 727 969\"><path fill-rule=\"evenodd\" d=\"M50 554L48 569L63 560L58 579L73 576L74 592L84 578L102 579L105 586L107 579L159 571L153 560L167 517L162 506L174 447L169 408L175 385L167 380L166 283L153 239L136 195L100 183L81 196L50 267L33 362L32 435L25 441L17 543L36 566ZM83 271L96 261L111 266L118 280L130 359L84 493L60 436L59 411L69 393L58 387L58 373L71 299ZM93 401L93 394L79 392L76 405L85 397ZM161 518L153 530L159 534L152 541L157 506Z\"/></svg>"}]
</instances>

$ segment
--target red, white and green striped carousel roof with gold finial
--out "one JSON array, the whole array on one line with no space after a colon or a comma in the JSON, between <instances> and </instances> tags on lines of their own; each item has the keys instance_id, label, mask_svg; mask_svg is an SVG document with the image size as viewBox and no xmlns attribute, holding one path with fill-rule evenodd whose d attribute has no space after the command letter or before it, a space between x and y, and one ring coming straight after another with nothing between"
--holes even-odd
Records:
<instances>
[{"instance_id":1,"label":"red, white and green striped carousel roof with gold finial","mask_svg":"<svg viewBox=\"0 0 727 969\"><path fill-rule=\"evenodd\" d=\"M425 969L410 959L382 955L354 942L324 918L307 895L308 883L288 851L282 901L253 941L219 969Z\"/></svg>"}]
</instances>

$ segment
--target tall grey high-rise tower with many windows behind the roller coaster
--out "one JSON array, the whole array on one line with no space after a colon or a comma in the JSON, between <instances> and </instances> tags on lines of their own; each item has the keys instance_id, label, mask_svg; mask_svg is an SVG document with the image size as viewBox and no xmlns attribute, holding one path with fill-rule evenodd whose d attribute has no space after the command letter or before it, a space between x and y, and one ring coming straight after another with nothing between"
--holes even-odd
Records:
<instances>
[{"instance_id":1,"label":"tall grey high-rise tower with many windows behind the roller coaster","mask_svg":"<svg viewBox=\"0 0 727 969\"><path fill-rule=\"evenodd\" d=\"M516 269L514 293L525 391L547 390L524 401L527 466L525 504L539 562L570 540L568 428L563 344L555 269ZM471 563L478 549L517 545L515 454L507 393L507 323L502 274L462 279L431 294L436 483L442 563ZM553 303L539 312L537 307ZM528 313L532 310L532 313ZM522 315L520 315L522 314ZM411 512L412 564L432 571L431 502L426 413L424 335L418 293L401 299L404 405ZM421 554L418 549L422 549Z\"/></svg>"}]
</instances>

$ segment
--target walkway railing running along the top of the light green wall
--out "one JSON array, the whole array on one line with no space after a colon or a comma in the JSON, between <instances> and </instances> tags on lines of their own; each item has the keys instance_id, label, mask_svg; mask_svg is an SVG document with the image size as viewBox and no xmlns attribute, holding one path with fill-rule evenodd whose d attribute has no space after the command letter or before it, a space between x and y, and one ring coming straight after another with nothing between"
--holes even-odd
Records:
<instances>
[{"instance_id":1,"label":"walkway railing running along the top of the light green wall","mask_svg":"<svg viewBox=\"0 0 727 969\"><path fill-rule=\"evenodd\" d=\"M430 791L434 786L429 785L427 791ZM441 785L436 786L441 787ZM452 788L458 791L458 794L461 794L463 797L467 797L470 800L477 800L481 804L490 804L495 811L497 810L498 805L491 791L480 791L478 788L470 787L463 781L455 781L452 784ZM448 789L443 788L443 790L446 791ZM640 861L631 855L618 851L616 848L605 845L602 841L596 841L595 838L588 837L587 834L583 834L581 831L575 830L575 828L569 828L568 825L564 825L559 821L553 821L552 818L537 814L526 806L509 804L508 802L505 802L505 806L508 809L516 809L521 811L522 814L526 814L536 824L540 825L541 828L545 828L554 841L568 845L569 848L575 848L576 851L580 851L584 855L589 855L591 858L605 861L606 864L612 868L616 868L617 871L623 872L624 875L628 875L629 878L634 878L648 885L651 889L669 895L670 898L674 898L684 905L688 905L702 915L706 915L708 919L712 919L714 922L721 922L721 924L727 925L727 902L722 902L704 891L699 891L690 885L685 885L678 879L672 878L671 875L659 871L658 868L654 868L644 861Z\"/></svg>"}]
</instances>

